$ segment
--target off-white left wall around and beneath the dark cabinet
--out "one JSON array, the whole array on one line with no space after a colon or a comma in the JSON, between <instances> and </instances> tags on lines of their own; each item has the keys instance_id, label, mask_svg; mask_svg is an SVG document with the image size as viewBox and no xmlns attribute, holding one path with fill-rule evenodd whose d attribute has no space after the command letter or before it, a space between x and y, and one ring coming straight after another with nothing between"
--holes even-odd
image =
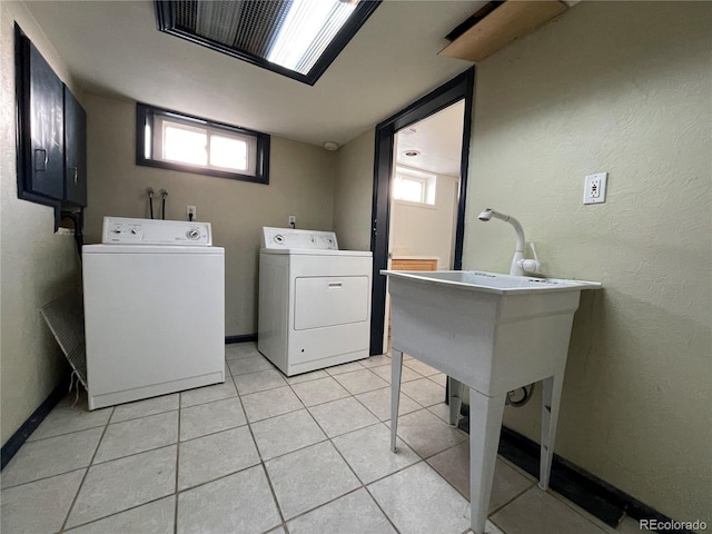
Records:
<instances>
[{"instance_id":1,"label":"off-white left wall around and beneath the dark cabinet","mask_svg":"<svg viewBox=\"0 0 712 534\"><path fill-rule=\"evenodd\" d=\"M66 65L22 3L0 2L0 369L2 444L47 398L67 367L40 316L76 289L73 237L55 234L55 211L18 199L14 120L14 21L75 95Z\"/></svg>"}]
</instances>

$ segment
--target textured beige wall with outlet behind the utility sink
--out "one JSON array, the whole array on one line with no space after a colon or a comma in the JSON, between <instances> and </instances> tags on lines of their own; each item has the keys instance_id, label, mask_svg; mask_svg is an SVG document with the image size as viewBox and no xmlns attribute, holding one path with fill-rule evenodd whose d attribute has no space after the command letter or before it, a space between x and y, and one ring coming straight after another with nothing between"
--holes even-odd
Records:
<instances>
[{"instance_id":1,"label":"textured beige wall with outlet behind the utility sink","mask_svg":"<svg viewBox=\"0 0 712 534\"><path fill-rule=\"evenodd\" d=\"M465 268L600 280L576 315L556 453L712 522L712 3L581 2L477 68ZM607 200L583 206L584 176ZM535 398L537 400L538 398ZM505 423L538 441L538 403Z\"/></svg>"}]
</instances>

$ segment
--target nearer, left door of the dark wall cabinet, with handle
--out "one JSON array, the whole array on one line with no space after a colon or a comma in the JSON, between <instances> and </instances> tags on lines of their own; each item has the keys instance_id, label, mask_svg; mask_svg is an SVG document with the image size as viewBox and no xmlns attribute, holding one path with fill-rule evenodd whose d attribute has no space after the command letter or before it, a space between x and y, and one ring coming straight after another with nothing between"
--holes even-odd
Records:
<instances>
[{"instance_id":1,"label":"nearer, left door of the dark wall cabinet, with handle","mask_svg":"<svg viewBox=\"0 0 712 534\"><path fill-rule=\"evenodd\" d=\"M63 88L59 77L30 43L31 192L61 200L65 195Z\"/></svg>"}]
</instances>

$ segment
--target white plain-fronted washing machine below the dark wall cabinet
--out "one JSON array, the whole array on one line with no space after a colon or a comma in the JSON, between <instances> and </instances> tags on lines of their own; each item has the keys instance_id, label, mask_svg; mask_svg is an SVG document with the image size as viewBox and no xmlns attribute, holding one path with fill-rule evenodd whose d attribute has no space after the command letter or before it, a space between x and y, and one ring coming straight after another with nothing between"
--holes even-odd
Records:
<instances>
[{"instance_id":1,"label":"white plain-fronted washing machine below the dark wall cabinet","mask_svg":"<svg viewBox=\"0 0 712 534\"><path fill-rule=\"evenodd\" d=\"M105 217L82 247L89 409L225 382L225 249L209 222Z\"/></svg>"}]
</instances>

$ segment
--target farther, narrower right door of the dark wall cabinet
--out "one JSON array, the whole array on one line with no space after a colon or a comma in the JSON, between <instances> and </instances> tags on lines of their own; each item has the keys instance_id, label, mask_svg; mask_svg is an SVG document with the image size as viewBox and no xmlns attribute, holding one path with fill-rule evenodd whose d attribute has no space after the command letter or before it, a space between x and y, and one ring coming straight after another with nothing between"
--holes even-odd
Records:
<instances>
[{"instance_id":1,"label":"farther, narrower right door of the dark wall cabinet","mask_svg":"<svg viewBox=\"0 0 712 534\"><path fill-rule=\"evenodd\" d=\"M65 200L87 206L87 113L65 86Z\"/></svg>"}]
</instances>

